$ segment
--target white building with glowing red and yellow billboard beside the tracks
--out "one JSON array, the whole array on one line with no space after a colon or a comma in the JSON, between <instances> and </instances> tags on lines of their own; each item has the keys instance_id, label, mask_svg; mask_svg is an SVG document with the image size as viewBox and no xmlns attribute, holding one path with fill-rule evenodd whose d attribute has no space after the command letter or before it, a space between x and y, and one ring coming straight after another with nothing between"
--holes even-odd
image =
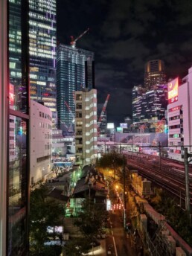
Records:
<instances>
[{"instance_id":1,"label":"white building with glowing red and yellow billboard beside the tracks","mask_svg":"<svg viewBox=\"0 0 192 256\"><path fill-rule=\"evenodd\" d=\"M178 79L168 83L169 157L178 160L182 160L183 147L181 146L188 146L188 151L192 150L192 67L182 81L181 86L178 86Z\"/></svg>"}]
</instances>

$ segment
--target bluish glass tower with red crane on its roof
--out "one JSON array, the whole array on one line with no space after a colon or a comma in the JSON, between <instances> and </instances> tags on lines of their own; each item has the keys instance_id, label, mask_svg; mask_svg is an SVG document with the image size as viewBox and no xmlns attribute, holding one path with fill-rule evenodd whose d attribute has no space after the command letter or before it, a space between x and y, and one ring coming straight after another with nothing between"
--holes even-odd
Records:
<instances>
[{"instance_id":1,"label":"bluish glass tower with red crane on its roof","mask_svg":"<svg viewBox=\"0 0 192 256\"><path fill-rule=\"evenodd\" d=\"M58 127L74 121L74 92L94 89L94 54L60 44L57 48L57 113Z\"/></svg>"}]
</instances>

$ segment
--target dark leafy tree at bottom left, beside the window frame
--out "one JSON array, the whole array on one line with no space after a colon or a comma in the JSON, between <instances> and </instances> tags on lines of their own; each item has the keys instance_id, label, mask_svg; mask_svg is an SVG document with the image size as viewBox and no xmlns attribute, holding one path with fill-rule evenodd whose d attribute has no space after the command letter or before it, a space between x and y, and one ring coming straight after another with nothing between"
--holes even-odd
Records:
<instances>
[{"instance_id":1,"label":"dark leafy tree at bottom left, beside the window frame","mask_svg":"<svg viewBox=\"0 0 192 256\"><path fill-rule=\"evenodd\" d=\"M63 205L54 199L48 199L47 195L48 190L45 185L40 185L39 188L31 191L30 240L31 252L36 255L44 251L45 241L51 239L47 227L61 225L61 217L64 214Z\"/></svg>"}]
</instances>

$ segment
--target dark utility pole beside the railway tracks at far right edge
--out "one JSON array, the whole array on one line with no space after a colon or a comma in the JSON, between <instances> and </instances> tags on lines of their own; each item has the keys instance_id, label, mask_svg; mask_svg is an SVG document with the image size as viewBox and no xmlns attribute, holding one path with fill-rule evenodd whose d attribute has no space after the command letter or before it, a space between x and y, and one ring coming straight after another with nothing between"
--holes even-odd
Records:
<instances>
[{"instance_id":1,"label":"dark utility pole beside the railway tracks at far right edge","mask_svg":"<svg viewBox=\"0 0 192 256\"><path fill-rule=\"evenodd\" d=\"M188 158L191 157L192 154L188 153L188 147L184 148L184 164L185 164L185 209L188 212L188 221L191 225L191 209L190 209L190 194L189 194L189 175L188 175L188 164L192 161Z\"/></svg>"}]
</instances>

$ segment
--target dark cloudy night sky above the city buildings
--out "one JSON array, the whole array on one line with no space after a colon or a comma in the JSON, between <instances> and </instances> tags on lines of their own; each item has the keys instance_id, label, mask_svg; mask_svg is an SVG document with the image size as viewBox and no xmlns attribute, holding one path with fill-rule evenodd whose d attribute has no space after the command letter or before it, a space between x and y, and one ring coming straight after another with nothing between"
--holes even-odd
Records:
<instances>
[{"instance_id":1,"label":"dark cloudy night sky above the city buildings","mask_svg":"<svg viewBox=\"0 0 192 256\"><path fill-rule=\"evenodd\" d=\"M132 115L132 87L144 84L144 63L161 59L167 78L192 65L192 0L57 0L57 40L95 52L98 103L108 121Z\"/></svg>"}]
</instances>

